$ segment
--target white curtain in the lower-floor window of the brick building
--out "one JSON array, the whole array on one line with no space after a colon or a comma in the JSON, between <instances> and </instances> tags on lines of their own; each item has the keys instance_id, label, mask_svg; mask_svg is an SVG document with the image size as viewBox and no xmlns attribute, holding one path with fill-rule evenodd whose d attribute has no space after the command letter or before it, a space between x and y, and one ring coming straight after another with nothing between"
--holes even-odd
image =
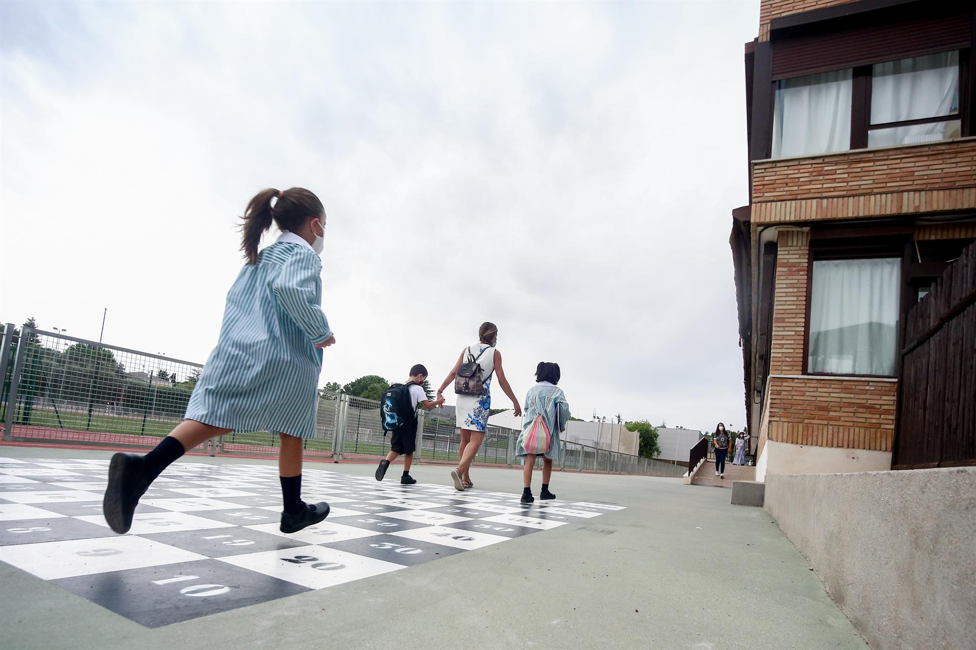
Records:
<instances>
[{"instance_id":1,"label":"white curtain in the lower-floor window of the brick building","mask_svg":"<svg viewBox=\"0 0 976 650\"><path fill-rule=\"evenodd\" d=\"M810 372L895 373L901 260L815 261Z\"/></svg>"}]
</instances>

